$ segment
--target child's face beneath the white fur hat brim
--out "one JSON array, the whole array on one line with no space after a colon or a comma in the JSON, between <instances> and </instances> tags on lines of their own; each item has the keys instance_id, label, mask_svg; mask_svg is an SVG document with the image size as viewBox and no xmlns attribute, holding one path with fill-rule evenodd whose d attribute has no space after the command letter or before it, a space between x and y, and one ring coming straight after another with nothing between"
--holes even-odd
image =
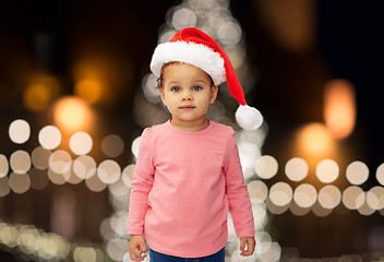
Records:
<instances>
[{"instance_id":1,"label":"child's face beneath the white fur hat brim","mask_svg":"<svg viewBox=\"0 0 384 262\"><path fill-rule=\"evenodd\" d=\"M164 105L178 127L199 127L205 123L209 104L217 96L217 86L212 86L207 73L188 63L172 63L164 71L159 88Z\"/></svg>"}]
</instances>

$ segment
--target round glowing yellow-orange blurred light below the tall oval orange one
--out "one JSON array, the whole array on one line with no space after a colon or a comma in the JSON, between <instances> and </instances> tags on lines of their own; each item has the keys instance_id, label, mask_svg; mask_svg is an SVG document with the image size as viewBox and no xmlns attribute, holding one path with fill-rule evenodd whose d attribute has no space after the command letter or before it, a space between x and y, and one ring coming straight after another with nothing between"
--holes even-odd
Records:
<instances>
[{"instance_id":1,"label":"round glowing yellow-orange blurred light below the tall oval orange one","mask_svg":"<svg viewBox=\"0 0 384 262\"><path fill-rule=\"evenodd\" d=\"M299 131L299 147L310 156L327 155L334 147L329 132L322 123L310 123Z\"/></svg>"}]
</instances>

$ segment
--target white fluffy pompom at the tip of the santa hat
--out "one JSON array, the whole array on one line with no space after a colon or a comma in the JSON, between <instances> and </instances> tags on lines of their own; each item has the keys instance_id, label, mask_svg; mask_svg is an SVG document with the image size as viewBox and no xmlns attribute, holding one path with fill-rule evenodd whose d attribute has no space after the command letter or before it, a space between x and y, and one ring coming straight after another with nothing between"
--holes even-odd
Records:
<instances>
[{"instance_id":1,"label":"white fluffy pompom at the tip of the santa hat","mask_svg":"<svg viewBox=\"0 0 384 262\"><path fill-rule=\"evenodd\" d=\"M255 130L263 123L262 114L254 107L240 105L235 114L236 121L244 130Z\"/></svg>"}]
</instances>

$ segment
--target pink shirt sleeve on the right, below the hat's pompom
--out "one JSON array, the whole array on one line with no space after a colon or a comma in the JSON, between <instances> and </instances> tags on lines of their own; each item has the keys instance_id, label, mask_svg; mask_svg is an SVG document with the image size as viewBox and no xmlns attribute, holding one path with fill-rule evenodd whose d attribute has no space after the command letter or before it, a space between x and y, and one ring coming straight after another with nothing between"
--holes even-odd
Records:
<instances>
[{"instance_id":1,"label":"pink shirt sleeve on the right, below the hat's pompom","mask_svg":"<svg viewBox=\"0 0 384 262\"><path fill-rule=\"evenodd\" d=\"M232 216L236 234L241 237L254 237L254 219L250 195L242 175L239 150L235 131L231 130L225 158L226 193L229 212Z\"/></svg>"}]
</instances>

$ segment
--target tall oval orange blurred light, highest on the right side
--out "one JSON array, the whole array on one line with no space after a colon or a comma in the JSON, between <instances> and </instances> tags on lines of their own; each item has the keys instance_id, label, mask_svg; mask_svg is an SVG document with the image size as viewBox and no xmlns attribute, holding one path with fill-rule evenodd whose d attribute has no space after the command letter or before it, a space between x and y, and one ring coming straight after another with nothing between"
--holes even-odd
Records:
<instances>
[{"instance_id":1,"label":"tall oval orange blurred light, highest on the right side","mask_svg":"<svg viewBox=\"0 0 384 262\"><path fill-rule=\"evenodd\" d=\"M336 139L347 138L355 128L356 97L353 85L346 80L333 80L324 88L325 126Z\"/></svg>"}]
</instances>

